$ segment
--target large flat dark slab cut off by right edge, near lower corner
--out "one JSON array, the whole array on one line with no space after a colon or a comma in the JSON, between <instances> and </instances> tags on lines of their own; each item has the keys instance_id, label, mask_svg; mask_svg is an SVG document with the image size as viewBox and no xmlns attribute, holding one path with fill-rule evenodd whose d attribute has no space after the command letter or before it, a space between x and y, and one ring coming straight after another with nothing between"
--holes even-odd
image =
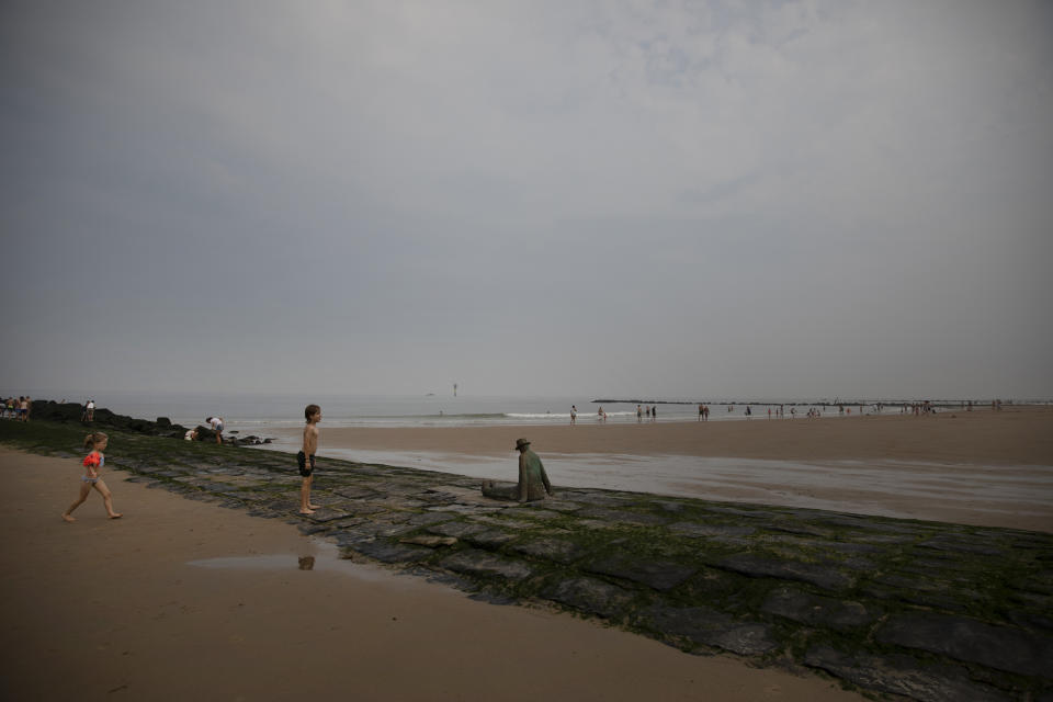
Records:
<instances>
[{"instance_id":1,"label":"large flat dark slab cut off by right edge, near lower corner","mask_svg":"<svg viewBox=\"0 0 1053 702\"><path fill-rule=\"evenodd\" d=\"M1053 679L1053 642L1018 629L917 612L890 619L878 627L875 638L998 670Z\"/></svg>"}]
</instances>

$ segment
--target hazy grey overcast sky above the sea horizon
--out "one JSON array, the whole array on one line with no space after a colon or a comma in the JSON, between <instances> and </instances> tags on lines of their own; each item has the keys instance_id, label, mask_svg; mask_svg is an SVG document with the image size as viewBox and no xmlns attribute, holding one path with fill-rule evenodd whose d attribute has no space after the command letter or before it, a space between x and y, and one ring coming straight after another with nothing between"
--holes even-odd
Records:
<instances>
[{"instance_id":1,"label":"hazy grey overcast sky above the sea horizon","mask_svg":"<svg viewBox=\"0 0 1053 702\"><path fill-rule=\"evenodd\" d=\"M5 0L0 394L1050 397L1051 66L1044 1Z\"/></svg>"}]
</instances>

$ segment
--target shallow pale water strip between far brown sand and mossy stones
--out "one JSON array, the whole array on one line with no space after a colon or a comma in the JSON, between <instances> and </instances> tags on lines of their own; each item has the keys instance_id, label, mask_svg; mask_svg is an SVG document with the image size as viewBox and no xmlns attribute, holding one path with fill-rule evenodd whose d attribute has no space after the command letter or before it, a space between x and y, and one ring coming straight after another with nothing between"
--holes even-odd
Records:
<instances>
[{"instance_id":1,"label":"shallow pale water strip between far brown sand and mossy stones","mask_svg":"<svg viewBox=\"0 0 1053 702\"><path fill-rule=\"evenodd\" d=\"M295 442L268 446L295 452ZM327 449L319 455L513 483L517 456ZM680 455L542 456L558 487L1053 531L1053 467ZM324 479L324 478L321 478Z\"/></svg>"}]
</instances>

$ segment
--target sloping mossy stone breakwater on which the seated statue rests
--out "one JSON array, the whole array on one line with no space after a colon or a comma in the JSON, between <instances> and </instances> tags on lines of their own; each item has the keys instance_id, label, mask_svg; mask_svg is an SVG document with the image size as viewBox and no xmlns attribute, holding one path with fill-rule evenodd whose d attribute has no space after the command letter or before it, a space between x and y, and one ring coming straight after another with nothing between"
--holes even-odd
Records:
<instances>
[{"instance_id":1,"label":"sloping mossy stone breakwater on which the seated statue rests","mask_svg":"<svg viewBox=\"0 0 1053 702\"><path fill-rule=\"evenodd\" d=\"M0 440L79 456L72 437L3 424ZM883 699L1053 701L1051 534L558 486L517 505L473 478L330 458L316 471L322 509L301 517L290 455L135 434L109 454L133 482L288 521L346 557L492 602Z\"/></svg>"}]
</instances>

